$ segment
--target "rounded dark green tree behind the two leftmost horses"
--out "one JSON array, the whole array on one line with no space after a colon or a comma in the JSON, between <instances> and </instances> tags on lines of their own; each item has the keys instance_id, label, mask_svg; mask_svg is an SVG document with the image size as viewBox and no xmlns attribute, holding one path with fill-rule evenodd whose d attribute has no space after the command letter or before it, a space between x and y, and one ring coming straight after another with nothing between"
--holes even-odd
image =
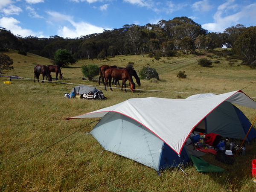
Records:
<instances>
[{"instance_id":1,"label":"rounded dark green tree behind the two leftmost horses","mask_svg":"<svg viewBox=\"0 0 256 192\"><path fill-rule=\"evenodd\" d=\"M58 65L59 67L63 67L63 66L66 66L66 65L76 63L76 59L66 49L58 49L54 53L53 63L55 65Z\"/></svg>"}]
</instances>

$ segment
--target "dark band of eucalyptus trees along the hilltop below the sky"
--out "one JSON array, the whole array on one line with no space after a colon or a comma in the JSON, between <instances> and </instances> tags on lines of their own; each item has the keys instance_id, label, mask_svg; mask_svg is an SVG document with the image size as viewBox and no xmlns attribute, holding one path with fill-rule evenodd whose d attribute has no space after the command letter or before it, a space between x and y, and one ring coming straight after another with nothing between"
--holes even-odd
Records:
<instances>
[{"instance_id":1,"label":"dark band of eucalyptus trees along the hilltop below the sky","mask_svg":"<svg viewBox=\"0 0 256 192\"><path fill-rule=\"evenodd\" d=\"M255 31L255 27L246 28L238 24L225 29L223 33L208 32L188 17L160 20L157 24L148 23L144 26L125 25L120 29L105 30L73 39L57 35L49 38L22 38L0 28L0 50L15 49L54 59L58 49L66 49L76 59L97 58L101 61L106 57L128 54L144 56L147 53L157 57L171 57L177 50L193 54L225 45L233 48L244 62L251 64L256 59ZM241 37L243 33L247 34ZM254 49L248 50L253 45ZM248 51L253 53L248 55Z\"/></svg>"}]
</instances>

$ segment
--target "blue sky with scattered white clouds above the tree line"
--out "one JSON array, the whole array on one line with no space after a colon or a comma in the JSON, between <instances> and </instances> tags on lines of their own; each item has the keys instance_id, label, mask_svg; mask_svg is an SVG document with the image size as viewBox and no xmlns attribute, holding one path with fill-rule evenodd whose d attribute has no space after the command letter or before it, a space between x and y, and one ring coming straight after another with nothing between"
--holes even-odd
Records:
<instances>
[{"instance_id":1,"label":"blue sky with scattered white clouds above the tree line","mask_svg":"<svg viewBox=\"0 0 256 192\"><path fill-rule=\"evenodd\" d=\"M76 38L182 16L223 32L256 26L256 0L0 0L0 14L0 27L22 37Z\"/></svg>"}]
</instances>

